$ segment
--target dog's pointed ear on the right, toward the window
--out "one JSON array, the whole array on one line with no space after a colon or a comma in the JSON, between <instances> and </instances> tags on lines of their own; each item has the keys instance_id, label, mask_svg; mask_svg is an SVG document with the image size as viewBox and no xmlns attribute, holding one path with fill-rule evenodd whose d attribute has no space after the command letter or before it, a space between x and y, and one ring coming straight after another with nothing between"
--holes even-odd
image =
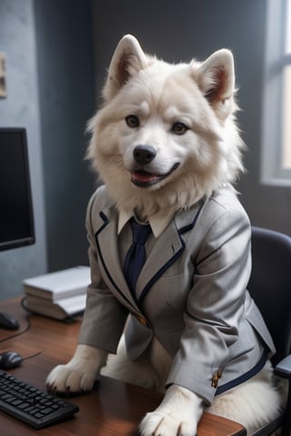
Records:
<instances>
[{"instance_id":1,"label":"dog's pointed ear on the right, toward the window","mask_svg":"<svg viewBox=\"0 0 291 436\"><path fill-rule=\"evenodd\" d=\"M232 112L235 93L233 54L221 49L198 67L198 85L221 120Z\"/></svg>"}]
</instances>

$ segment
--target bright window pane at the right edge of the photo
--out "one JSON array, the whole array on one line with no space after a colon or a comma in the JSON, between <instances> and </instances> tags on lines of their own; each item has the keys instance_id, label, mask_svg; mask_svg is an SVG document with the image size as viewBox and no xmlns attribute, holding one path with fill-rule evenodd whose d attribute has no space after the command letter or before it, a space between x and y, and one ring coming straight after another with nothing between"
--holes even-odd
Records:
<instances>
[{"instance_id":1,"label":"bright window pane at the right edge of the photo","mask_svg":"<svg viewBox=\"0 0 291 436\"><path fill-rule=\"evenodd\" d=\"M262 181L291 186L291 0L267 0Z\"/></svg>"}]
</instances>

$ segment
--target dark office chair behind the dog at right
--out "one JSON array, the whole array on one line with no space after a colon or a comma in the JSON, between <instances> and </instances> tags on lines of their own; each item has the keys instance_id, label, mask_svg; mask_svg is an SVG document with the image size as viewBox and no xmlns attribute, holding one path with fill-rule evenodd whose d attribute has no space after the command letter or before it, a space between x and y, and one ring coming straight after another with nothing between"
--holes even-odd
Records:
<instances>
[{"instance_id":1,"label":"dark office chair behind the dog at right","mask_svg":"<svg viewBox=\"0 0 291 436\"><path fill-rule=\"evenodd\" d=\"M282 428L291 435L291 238L252 227L253 267L247 289L262 312L276 345L272 362L276 375L288 380L286 411L253 436L268 436Z\"/></svg>"}]
</instances>

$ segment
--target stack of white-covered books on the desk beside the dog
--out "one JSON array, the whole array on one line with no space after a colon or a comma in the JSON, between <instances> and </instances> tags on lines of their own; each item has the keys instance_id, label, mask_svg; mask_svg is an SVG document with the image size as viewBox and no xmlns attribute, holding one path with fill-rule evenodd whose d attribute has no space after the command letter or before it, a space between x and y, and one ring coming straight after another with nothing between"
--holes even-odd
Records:
<instances>
[{"instance_id":1,"label":"stack of white-covered books on the desk beside the dog","mask_svg":"<svg viewBox=\"0 0 291 436\"><path fill-rule=\"evenodd\" d=\"M25 308L57 320L84 312L90 268L76 266L23 281Z\"/></svg>"}]
</instances>

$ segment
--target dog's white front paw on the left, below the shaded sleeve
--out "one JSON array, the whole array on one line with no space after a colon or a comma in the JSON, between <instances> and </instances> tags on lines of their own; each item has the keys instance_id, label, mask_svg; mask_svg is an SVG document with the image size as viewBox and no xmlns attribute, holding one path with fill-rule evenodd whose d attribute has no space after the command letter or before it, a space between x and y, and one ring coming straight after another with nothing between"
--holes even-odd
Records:
<instances>
[{"instance_id":1,"label":"dog's white front paw on the left, below the shaded sleeve","mask_svg":"<svg viewBox=\"0 0 291 436\"><path fill-rule=\"evenodd\" d=\"M78 345L70 362L56 366L49 373L46 379L48 391L90 391L105 365L107 354L88 345Z\"/></svg>"}]
</instances>

